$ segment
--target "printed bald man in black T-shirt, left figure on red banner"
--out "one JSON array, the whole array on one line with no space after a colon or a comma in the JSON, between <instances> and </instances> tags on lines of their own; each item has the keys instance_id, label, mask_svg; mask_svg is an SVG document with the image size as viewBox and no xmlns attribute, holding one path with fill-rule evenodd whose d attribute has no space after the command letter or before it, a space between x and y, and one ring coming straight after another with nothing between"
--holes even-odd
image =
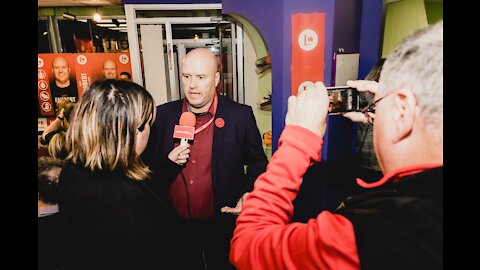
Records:
<instances>
[{"instance_id":1,"label":"printed bald man in black T-shirt, left figure on red banner","mask_svg":"<svg viewBox=\"0 0 480 270\"><path fill-rule=\"evenodd\" d=\"M77 82L75 79L70 79L70 66L64 56L59 55L53 58L52 72L55 80L50 82L50 92L53 97L55 112L58 113L60 109L57 104L61 99L77 102Z\"/></svg>"}]
</instances>

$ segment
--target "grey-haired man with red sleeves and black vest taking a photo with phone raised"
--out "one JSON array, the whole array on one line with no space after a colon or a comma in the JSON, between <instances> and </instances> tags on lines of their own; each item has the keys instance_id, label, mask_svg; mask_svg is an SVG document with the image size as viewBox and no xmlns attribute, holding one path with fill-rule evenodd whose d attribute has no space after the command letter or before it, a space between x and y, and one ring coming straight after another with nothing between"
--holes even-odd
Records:
<instances>
[{"instance_id":1,"label":"grey-haired man with red sleeves and black vest taking a photo with phone raised","mask_svg":"<svg viewBox=\"0 0 480 270\"><path fill-rule=\"evenodd\" d=\"M320 161L329 101L321 82L289 98L278 150L237 219L237 269L443 269L443 22L406 38L376 86L363 117L384 177L357 179L368 190L307 223L290 222L292 201Z\"/></svg>"}]
</instances>

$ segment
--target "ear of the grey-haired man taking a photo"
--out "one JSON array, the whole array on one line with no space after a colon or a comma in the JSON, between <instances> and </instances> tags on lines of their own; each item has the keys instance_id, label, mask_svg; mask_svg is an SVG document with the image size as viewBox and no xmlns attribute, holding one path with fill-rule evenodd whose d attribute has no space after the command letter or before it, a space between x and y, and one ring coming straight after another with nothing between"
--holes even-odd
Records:
<instances>
[{"instance_id":1,"label":"ear of the grey-haired man taking a photo","mask_svg":"<svg viewBox=\"0 0 480 270\"><path fill-rule=\"evenodd\" d=\"M399 90L393 94L394 142L407 138L415 124L417 98L410 90Z\"/></svg>"}]
</instances>

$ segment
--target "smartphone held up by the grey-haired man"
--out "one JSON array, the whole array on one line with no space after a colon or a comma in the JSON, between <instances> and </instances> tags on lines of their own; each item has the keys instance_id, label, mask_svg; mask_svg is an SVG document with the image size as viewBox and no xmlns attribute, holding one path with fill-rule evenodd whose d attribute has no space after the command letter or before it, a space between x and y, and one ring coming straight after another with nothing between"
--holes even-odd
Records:
<instances>
[{"instance_id":1,"label":"smartphone held up by the grey-haired man","mask_svg":"<svg viewBox=\"0 0 480 270\"><path fill-rule=\"evenodd\" d=\"M356 88L349 86L332 86L327 87L327 92L328 98L330 99L329 114L352 112L360 109Z\"/></svg>"}]
</instances>

